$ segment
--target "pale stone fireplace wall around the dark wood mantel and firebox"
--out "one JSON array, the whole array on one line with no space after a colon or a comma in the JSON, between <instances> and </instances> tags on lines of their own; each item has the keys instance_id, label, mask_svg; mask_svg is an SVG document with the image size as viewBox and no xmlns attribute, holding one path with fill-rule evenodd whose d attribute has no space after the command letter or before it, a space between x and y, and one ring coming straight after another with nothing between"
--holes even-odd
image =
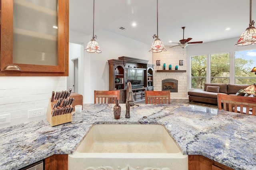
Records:
<instances>
[{"instance_id":1,"label":"pale stone fireplace wall around the dark wood mantel and firebox","mask_svg":"<svg viewBox=\"0 0 256 170\"><path fill-rule=\"evenodd\" d=\"M169 69L169 64L172 64L172 70L175 66L179 66L179 70L187 70L187 49L181 47L169 48L166 46L167 51L160 53L153 53L154 72L154 90L162 90L162 80L166 78L174 78L178 80L178 92L172 92L171 98L173 99L186 99L187 98L187 72L156 72L156 70L163 70L163 64L166 64L166 70ZM156 65L156 60L160 60L160 66ZM179 61L183 60L183 66L179 65Z\"/></svg>"}]
</instances>

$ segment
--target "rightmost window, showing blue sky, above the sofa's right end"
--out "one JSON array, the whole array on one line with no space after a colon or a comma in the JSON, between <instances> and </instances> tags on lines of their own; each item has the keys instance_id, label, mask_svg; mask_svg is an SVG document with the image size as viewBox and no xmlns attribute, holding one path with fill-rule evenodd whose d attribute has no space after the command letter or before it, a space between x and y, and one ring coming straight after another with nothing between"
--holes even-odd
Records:
<instances>
[{"instance_id":1,"label":"rightmost window, showing blue sky, above the sofa's right end","mask_svg":"<svg viewBox=\"0 0 256 170\"><path fill-rule=\"evenodd\" d=\"M254 84L256 74L252 68L256 66L256 49L246 51L235 51L235 83Z\"/></svg>"}]
</instances>

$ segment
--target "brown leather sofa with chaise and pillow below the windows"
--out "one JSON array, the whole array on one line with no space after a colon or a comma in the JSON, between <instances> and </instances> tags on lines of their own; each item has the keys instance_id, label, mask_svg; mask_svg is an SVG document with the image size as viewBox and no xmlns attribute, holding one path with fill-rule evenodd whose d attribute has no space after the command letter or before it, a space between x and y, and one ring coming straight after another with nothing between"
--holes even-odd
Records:
<instances>
[{"instance_id":1,"label":"brown leather sofa with chaise and pillow below the windows","mask_svg":"<svg viewBox=\"0 0 256 170\"><path fill-rule=\"evenodd\" d=\"M208 87L209 86L209 87ZM188 100L202 103L218 104L217 94L236 95L236 93L248 87L245 84L218 84L205 83L204 90L188 91Z\"/></svg>"}]
</instances>

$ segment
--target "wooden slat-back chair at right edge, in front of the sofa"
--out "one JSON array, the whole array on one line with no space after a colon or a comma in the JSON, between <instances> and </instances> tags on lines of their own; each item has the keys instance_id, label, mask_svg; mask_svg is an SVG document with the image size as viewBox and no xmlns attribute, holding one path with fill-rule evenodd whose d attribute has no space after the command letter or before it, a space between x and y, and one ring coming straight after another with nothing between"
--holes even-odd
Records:
<instances>
[{"instance_id":1,"label":"wooden slat-back chair at right edge, in front of the sofa","mask_svg":"<svg viewBox=\"0 0 256 170\"><path fill-rule=\"evenodd\" d=\"M218 94L218 109L242 113L246 115L256 115L256 98L245 96L234 96Z\"/></svg>"}]
</instances>

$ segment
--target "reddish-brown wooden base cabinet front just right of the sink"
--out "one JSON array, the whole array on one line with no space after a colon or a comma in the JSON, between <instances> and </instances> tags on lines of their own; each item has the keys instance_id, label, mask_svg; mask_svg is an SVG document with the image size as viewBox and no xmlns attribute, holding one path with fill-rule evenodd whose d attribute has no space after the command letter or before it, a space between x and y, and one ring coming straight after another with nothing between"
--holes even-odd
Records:
<instances>
[{"instance_id":1,"label":"reddish-brown wooden base cabinet front just right of the sink","mask_svg":"<svg viewBox=\"0 0 256 170\"><path fill-rule=\"evenodd\" d=\"M233 170L202 155L188 155L188 170Z\"/></svg>"}]
</instances>

